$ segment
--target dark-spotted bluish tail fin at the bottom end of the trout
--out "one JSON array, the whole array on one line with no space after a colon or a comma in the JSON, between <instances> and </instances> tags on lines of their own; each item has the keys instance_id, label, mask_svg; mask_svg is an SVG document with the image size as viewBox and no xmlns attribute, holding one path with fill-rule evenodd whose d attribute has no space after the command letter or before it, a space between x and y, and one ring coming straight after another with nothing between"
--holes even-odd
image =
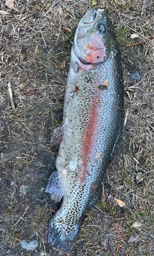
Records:
<instances>
[{"instance_id":1,"label":"dark-spotted bluish tail fin at the bottom end of the trout","mask_svg":"<svg viewBox=\"0 0 154 256\"><path fill-rule=\"evenodd\" d=\"M72 245L73 240L80 230L81 220L77 224L72 225L66 223L63 217L60 216L59 210L52 217L49 224L48 242L53 244L53 247L67 251Z\"/></svg>"}]
</instances>

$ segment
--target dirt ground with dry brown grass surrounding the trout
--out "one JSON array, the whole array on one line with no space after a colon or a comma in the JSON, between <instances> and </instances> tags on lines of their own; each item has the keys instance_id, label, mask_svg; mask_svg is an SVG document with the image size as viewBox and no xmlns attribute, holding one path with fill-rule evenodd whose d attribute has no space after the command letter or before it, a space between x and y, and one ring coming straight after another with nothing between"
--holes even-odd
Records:
<instances>
[{"instance_id":1,"label":"dirt ground with dry brown grass surrounding the trout","mask_svg":"<svg viewBox=\"0 0 154 256\"><path fill-rule=\"evenodd\" d=\"M64 253L48 244L59 204L44 190L55 170L58 147L50 139L62 122L73 36L92 5L106 10L119 40L124 129L100 201ZM153 0L15 0L14 8L2 0L0 10L8 12L0 23L0 255L153 255Z\"/></svg>"}]
</instances>

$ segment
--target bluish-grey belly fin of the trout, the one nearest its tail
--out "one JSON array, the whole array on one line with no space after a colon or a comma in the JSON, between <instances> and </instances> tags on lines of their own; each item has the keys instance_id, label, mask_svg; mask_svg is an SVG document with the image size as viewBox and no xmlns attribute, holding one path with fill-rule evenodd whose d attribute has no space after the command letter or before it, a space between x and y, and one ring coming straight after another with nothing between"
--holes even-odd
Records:
<instances>
[{"instance_id":1,"label":"bluish-grey belly fin of the trout, the one nearest its tail","mask_svg":"<svg viewBox=\"0 0 154 256\"><path fill-rule=\"evenodd\" d=\"M57 171L50 176L46 193L50 193L51 199L55 202L59 202L63 198L64 190Z\"/></svg>"}]
</instances>

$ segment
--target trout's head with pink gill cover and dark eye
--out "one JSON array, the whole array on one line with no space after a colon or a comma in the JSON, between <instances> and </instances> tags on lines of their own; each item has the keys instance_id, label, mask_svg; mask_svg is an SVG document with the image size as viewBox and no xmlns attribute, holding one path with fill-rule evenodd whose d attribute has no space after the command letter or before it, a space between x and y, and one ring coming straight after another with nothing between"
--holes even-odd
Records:
<instances>
[{"instance_id":1,"label":"trout's head with pink gill cover and dark eye","mask_svg":"<svg viewBox=\"0 0 154 256\"><path fill-rule=\"evenodd\" d=\"M73 42L73 52L83 64L106 61L116 52L113 25L104 10L91 8L81 19Z\"/></svg>"}]
</instances>

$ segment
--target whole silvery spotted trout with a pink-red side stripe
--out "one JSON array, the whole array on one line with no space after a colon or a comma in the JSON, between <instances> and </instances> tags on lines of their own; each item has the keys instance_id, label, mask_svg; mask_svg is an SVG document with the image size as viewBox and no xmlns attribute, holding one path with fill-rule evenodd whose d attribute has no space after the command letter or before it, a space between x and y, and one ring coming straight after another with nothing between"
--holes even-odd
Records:
<instances>
[{"instance_id":1,"label":"whole silvery spotted trout with a pink-red side stripe","mask_svg":"<svg viewBox=\"0 0 154 256\"><path fill-rule=\"evenodd\" d=\"M46 192L61 207L52 216L48 242L67 251L84 213L99 200L102 179L122 135L124 83L119 44L103 9L91 8L75 32L66 83L56 170Z\"/></svg>"}]
</instances>

